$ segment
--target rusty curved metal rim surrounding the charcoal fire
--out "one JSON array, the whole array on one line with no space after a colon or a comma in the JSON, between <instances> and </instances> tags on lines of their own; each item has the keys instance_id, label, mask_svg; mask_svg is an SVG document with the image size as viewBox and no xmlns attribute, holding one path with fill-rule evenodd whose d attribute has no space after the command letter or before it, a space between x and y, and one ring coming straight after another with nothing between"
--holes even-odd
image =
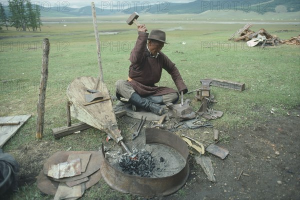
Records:
<instances>
[{"instance_id":1,"label":"rusty curved metal rim surrounding the charcoal fire","mask_svg":"<svg viewBox=\"0 0 300 200\"><path fill-rule=\"evenodd\" d=\"M158 128L146 128L146 144L156 143L175 149L185 160L185 166L176 174L166 177L141 177L119 171L105 159L102 144L101 174L105 182L112 188L123 193L142 196L169 195L180 189L189 174L187 163L188 148L186 143L177 135Z\"/></svg>"}]
</instances>

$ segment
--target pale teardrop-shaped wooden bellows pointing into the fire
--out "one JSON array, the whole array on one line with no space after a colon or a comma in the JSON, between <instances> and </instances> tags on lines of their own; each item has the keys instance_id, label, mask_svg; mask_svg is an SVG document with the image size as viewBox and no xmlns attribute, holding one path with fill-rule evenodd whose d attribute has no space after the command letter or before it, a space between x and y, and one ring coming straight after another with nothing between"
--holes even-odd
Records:
<instances>
[{"instance_id":1,"label":"pale teardrop-shaped wooden bellows pointing into the fire","mask_svg":"<svg viewBox=\"0 0 300 200\"><path fill-rule=\"evenodd\" d=\"M86 89L93 89L96 78L90 76L80 76L71 81L67 88L66 95L72 102L70 106L71 116L110 134L113 139L121 138L117 128L117 121L113 111L112 101L109 91L104 82L99 81L97 88L104 94L101 102L86 104L85 94L89 94Z\"/></svg>"}]
</instances>

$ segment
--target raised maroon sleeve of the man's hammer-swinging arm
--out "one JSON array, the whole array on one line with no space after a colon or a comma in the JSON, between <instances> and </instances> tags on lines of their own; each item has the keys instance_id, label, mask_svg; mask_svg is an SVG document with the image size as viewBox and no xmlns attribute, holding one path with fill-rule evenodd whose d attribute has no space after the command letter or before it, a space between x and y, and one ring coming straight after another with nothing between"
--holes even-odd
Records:
<instances>
[{"instance_id":1,"label":"raised maroon sleeve of the man's hammer-swinging arm","mask_svg":"<svg viewBox=\"0 0 300 200\"><path fill-rule=\"evenodd\" d=\"M131 63L139 64L144 55L144 49L147 45L148 32L138 32L136 43L131 50L129 60Z\"/></svg>"}]
</instances>

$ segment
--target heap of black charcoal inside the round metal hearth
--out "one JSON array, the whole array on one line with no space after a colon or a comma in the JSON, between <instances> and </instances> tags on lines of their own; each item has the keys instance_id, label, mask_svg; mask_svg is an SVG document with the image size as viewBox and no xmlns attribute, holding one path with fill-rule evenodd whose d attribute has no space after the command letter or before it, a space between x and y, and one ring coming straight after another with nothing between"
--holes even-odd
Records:
<instances>
[{"instance_id":1,"label":"heap of black charcoal inside the round metal hearth","mask_svg":"<svg viewBox=\"0 0 300 200\"><path fill-rule=\"evenodd\" d=\"M124 154L118 163L124 173L142 177L150 177L155 167L154 157L147 150L134 152L130 156Z\"/></svg>"}]
</instances>

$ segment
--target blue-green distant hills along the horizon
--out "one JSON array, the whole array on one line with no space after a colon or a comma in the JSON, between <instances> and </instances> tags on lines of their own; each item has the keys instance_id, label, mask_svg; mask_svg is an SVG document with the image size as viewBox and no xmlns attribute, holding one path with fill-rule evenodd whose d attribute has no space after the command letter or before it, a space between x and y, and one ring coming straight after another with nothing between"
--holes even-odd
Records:
<instances>
[{"instance_id":1,"label":"blue-green distant hills along the horizon","mask_svg":"<svg viewBox=\"0 0 300 200\"><path fill-rule=\"evenodd\" d=\"M97 6L97 4L95 5ZM300 11L300 0L195 0L189 3L157 1L157 3L152 5L148 3L137 4L131 7L125 5L126 3L122 3L120 6L96 7L96 13L97 15L115 15L131 14L136 11L138 13L147 12L152 14L200 14L205 11L243 11L263 14L266 12L284 13ZM60 10L57 10L56 7L41 7L40 10L41 17L91 16L91 6L81 8L61 7ZM7 7L5 7L5 12L9 15Z\"/></svg>"}]
</instances>

